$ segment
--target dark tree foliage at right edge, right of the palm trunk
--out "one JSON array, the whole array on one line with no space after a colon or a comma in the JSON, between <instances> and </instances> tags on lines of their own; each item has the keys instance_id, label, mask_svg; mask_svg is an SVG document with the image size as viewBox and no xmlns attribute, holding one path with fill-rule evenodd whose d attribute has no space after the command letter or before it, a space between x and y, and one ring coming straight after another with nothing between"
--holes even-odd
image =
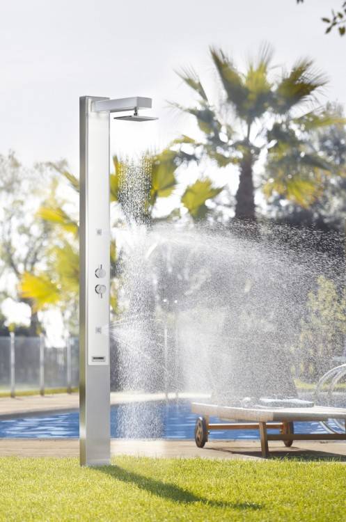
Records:
<instances>
[{"instance_id":1,"label":"dark tree foliage at right edge, right of the palm trunk","mask_svg":"<svg viewBox=\"0 0 346 522\"><path fill-rule=\"evenodd\" d=\"M268 210L276 221L294 226L308 226L327 232L343 232L346 219L346 130L343 125L343 109L338 104L331 106L337 116L333 125L310 127L308 139L301 155L295 163L288 162L287 170L282 168L281 177L278 168L272 175L271 161L276 155L269 155L267 168L263 175L264 190L268 198ZM307 168L304 154L313 151L320 161L326 161L331 167L327 171L320 168ZM300 171L301 180L298 190L292 183L290 168ZM294 178L293 178L294 180ZM304 187L305 184L305 187ZM292 194L292 190L296 193ZM298 205L299 202L299 205Z\"/></svg>"}]
</instances>

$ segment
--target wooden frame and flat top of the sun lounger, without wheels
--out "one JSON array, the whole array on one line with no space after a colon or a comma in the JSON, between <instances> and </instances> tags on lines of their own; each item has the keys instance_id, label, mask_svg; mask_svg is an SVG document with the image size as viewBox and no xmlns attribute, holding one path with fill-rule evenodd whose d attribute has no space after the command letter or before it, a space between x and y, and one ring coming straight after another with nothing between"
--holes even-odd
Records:
<instances>
[{"instance_id":1,"label":"wooden frame and flat top of the sun lounger, without wheels","mask_svg":"<svg viewBox=\"0 0 346 522\"><path fill-rule=\"evenodd\" d=\"M312 408L248 409L193 402L191 411L203 416L208 432L212 429L259 429L262 457L269 457L268 441L283 441L285 445L290 445L293 441L346 441L346 409L341 408L313 406ZM210 423L210 416L245 422ZM290 433L289 426L294 421L319 422L330 418L345 419L345 433ZM255 422L246 422L249 420ZM268 434L268 429L280 429L281 432Z\"/></svg>"}]
</instances>

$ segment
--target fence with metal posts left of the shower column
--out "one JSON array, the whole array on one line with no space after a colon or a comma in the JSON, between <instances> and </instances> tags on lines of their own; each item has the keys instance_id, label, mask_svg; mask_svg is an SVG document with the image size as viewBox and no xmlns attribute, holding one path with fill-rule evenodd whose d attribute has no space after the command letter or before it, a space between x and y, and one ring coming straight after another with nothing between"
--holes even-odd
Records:
<instances>
[{"instance_id":1,"label":"fence with metal posts left of the shower column","mask_svg":"<svg viewBox=\"0 0 346 522\"><path fill-rule=\"evenodd\" d=\"M44 335L0 337L0 393L66 388L79 383L79 340L70 337L65 347L47 347Z\"/></svg>"}]
</instances>

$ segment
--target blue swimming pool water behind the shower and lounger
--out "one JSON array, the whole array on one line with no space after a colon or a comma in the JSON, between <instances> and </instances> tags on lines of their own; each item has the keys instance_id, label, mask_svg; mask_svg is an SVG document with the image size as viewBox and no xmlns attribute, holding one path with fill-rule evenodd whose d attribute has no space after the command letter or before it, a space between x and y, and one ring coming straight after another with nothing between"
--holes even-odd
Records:
<instances>
[{"instance_id":1,"label":"blue swimming pool water behind the shower and lounger","mask_svg":"<svg viewBox=\"0 0 346 522\"><path fill-rule=\"evenodd\" d=\"M125 418L134 422L128 427ZM194 438L194 426L197 415L191 413L187 402L179 404L166 402L148 402L112 406L111 436L127 438ZM219 419L210 418L211 422ZM135 425L135 433L131 427ZM130 431L129 431L130 430ZM271 430L272 431L272 430ZM296 433L325 433L319 422L294 423ZM79 412L58 413L54 415L30 416L0 420L0 437L38 438L38 437L78 437ZM213 438L259 438L257 430L212 431Z\"/></svg>"}]
</instances>

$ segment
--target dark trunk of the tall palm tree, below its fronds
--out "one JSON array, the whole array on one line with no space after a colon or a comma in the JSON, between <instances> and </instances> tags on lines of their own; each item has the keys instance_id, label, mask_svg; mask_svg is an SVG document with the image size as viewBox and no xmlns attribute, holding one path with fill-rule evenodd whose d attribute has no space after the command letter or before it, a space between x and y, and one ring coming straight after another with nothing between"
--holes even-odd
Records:
<instances>
[{"instance_id":1,"label":"dark trunk of the tall palm tree, below its fronds","mask_svg":"<svg viewBox=\"0 0 346 522\"><path fill-rule=\"evenodd\" d=\"M244 155L240 164L239 186L235 195L235 219L255 221L255 190L253 187L253 157Z\"/></svg>"}]
</instances>

